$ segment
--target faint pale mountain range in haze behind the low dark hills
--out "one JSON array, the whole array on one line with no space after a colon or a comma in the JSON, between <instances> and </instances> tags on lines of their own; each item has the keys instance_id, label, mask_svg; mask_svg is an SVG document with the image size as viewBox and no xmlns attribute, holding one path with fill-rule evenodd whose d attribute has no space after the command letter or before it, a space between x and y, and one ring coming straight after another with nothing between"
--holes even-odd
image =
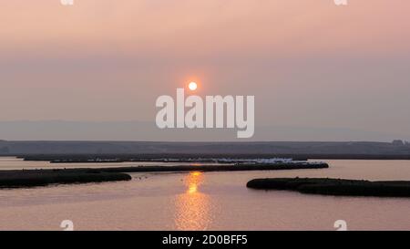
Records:
<instances>
[{"instance_id":1,"label":"faint pale mountain range in haze behind the low dark hills","mask_svg":"<svg viewBox=\"0 0 410 249\"><path fill-rule=\"evenodd\" d=\"M257 126L253 141L386 141L410 140L397 133L372 132L323 127ZM236 130L166 129L154 121L84 122L84 121L9 121L0 122L3 140L139 140L139 141L245 141L236 139Z\"/></svg>"}]
</instances>

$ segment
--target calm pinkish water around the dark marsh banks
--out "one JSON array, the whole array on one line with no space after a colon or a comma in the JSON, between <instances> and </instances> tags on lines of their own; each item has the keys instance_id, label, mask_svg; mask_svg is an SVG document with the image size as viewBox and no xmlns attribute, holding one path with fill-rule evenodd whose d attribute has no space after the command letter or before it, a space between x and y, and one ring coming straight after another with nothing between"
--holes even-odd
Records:
<instances>
[{"instance_id":1,"label":"calm pinkish water around the dark marsh banks","mask_svg":"<svg viewBox=\"0 0 410 249\"><path fill-rule=\"evenodd\" d=\"M410 180L410 161L328 162L322 170L133 173L130 182L0 190L0 230L61 230L63 220L76 230L334 230L336 220L350 230L410 229L410 199L245 187L264 177Z\"/></svg>"}]
</instances>

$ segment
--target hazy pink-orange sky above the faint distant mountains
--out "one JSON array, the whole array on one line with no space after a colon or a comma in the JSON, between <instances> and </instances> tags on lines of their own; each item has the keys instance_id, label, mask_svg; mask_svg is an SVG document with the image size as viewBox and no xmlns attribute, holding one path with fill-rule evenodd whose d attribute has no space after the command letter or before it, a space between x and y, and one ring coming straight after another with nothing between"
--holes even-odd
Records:
<instances>
[{"instance_id":1,"label":"hazy pink-orange sky above the faint distant mountains","mask_svg":"<svg viewBox=\"0 0 410 249\"><path fill-rule=\"evenodd\" d=\"M190 80L256 125L410 134L410 1L0 0L0 121L152 121Z\"/></svg>"}]
</instances>

